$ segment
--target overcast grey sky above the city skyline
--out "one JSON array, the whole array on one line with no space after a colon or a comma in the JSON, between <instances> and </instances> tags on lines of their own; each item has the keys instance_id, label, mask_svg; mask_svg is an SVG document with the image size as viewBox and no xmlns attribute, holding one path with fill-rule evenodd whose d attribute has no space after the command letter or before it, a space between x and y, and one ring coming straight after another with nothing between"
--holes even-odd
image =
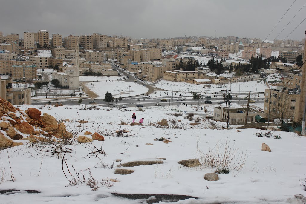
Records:
<instances>
[{"instance_id":1,"label":"overcast grey sky above the city skyline","mask_svg":"<svg viewBox=\"0 0 306 204\"><path fill-rule=\"evenodd\" d=\"M63 36L132 38L229 36L266 39L294 0L1 0L3 35L48 30ZM296 0L268 40L274 40L303 7ZM306 17L306 6L276 39L285 39ZM288 39L305 37L306 20Z\"/></svg>"}]
</instances>

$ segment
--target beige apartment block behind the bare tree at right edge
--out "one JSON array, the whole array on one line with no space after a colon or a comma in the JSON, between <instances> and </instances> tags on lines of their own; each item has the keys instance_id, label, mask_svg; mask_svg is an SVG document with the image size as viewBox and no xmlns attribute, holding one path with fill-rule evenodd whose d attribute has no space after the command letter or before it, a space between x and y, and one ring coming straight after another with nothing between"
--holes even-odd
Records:
<instances>
[{"instance_id":1,"label":"beige apartment block behind the bare tree at right edge","mask_svg":"<svg viewBox=\"0 0 306 204\"><path fill-rule=\"evenodd\" d=\"M269 114L269 102L271 98L270 118L280 118L283 112L284 119L298 119L300 96L300 92L297 89L288 89L287 87L277 87L272 90L266 89L264 102L264 113L266 113L266 117Z\"/></svg>"}]
</instances>

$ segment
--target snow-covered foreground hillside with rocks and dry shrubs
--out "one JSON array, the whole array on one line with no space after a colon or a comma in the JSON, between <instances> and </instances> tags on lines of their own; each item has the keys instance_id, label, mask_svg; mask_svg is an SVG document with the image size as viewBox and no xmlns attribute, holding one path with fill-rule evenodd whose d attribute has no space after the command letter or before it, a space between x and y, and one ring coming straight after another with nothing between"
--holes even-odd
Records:
<instances>
[{"instance_id":1,"label":"snow-covered foreground hillside with rocks and dry shrubs","mask_svg":"<svg viewBox=\"0 0 306 204\"><path fill-rule=\"evenodd\" d=\"M21 109L39 106L22 105ZM94 140L92 143L81 143L66 146L71 153L59 156L36 150L35 146L18 146L0 151L0 170L5 168L5 180L0 185L1 190L38 190L39 194L17 193L0 195L0 203L118 203L138 204L147 203L144 199L129 200L114 197L111 193L125 194L178 194L199 197L176 202L177 204L203 203L298 203L294 201L295 194L305 195L300 186L299 178L304 178L306 169L306 138L295 133L273 132L282 139L261 138L256 136L258 129L241 129L242 132L231 130L211 130L209 121L200 121L201 128L189 125L185 115L174 117L171 113L182 113L186 107L144 107L144 112L137 109L119 110L99 107L99 110L80 110L84 106L45 106L40 111L56 117L57 120L69 119L65 122L67 129L80 128L77 135L84 135L85 131L94 133L98 130L115 132L120 128L129 132L125 136L106 136L104 142ZM71 108L71 109L70 109ZM184 109L183 109L184 108ZM144 117L144 126L119 125L120 121L131 122L132 112L136 113L137 121ZM161 119L174 119L182 129L157 128L148 126ZM79 124L76 120L87 120L90 123ZM80 126L81 127L77 127ZM217 125L218 126L218 125ZM105 130L104 130L105 129ZM90 135L87 135L89 138ZM166 144L154 141L155 138L169 139ZM148 146L146 143L152 143ZM266 143L271 152L262 151L261 145ZM105 151L106 155L89 154L91 148L97 147ZM234 160L229 165L228 174L218 174L218 181L203 179L205 173L214 172L215 168L198 166L187 168L178 161L199 159L206 164L204 158L211 150L220 154L228 145L235 152ZM217 148L218 147L218 148ZM125 154L120 154L125 153ZM9 155L9 160L8 160ZM235 168L241 155L245 163L241 169ZM149 158L165 158L163 164L141 165L135 167L116 167L130 161L148 161ZM236 159L238 158L238 161ZM121 161L119 161L121 160ZM9 165L10 161L10 165ZM67 164L67 165L66 165ZM114 164L114 165L113 165ZM11 168L10 168L11 167ZM76 170L74 171L73 168ZM69 185L69 180L77 177L83 180L80 170L87 180L89 170L98 182L97 191L79 182L79 185ZM16 178L10 181L11 170ZM69 172L71 173L70 176ZM134 170L129 175L114 174L115 169ZM63 171L66 173L64 175ZM101 184L102 180L110 180L113 186L107 188ZM114 182L116 181L116 182ZM82 185L81 185L82 184ZM25 192L25 191L23 191ZM289 200L287 200L289 199ZM290 200L291 199L291 200ZM288 201L288 202L287 202ZM166 203L159 202L159 203Z\"/></svg>"}]
</instances>

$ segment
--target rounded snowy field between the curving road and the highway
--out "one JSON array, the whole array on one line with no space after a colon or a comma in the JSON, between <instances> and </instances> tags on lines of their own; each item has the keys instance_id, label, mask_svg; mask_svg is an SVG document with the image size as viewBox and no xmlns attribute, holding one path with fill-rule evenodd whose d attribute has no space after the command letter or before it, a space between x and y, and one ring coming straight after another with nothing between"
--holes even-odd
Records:
<instances>
[{"instance_id":1,"label":"rounded snowy field between the curving road and the highway","mask_svg":"<svg viewBox=\"0 0 306 204\"><path fill-rule=\"evenodd\" d=\"M107 78L107 77L106 77ZM112 93L112 95L115 98L121 97L128 97L128 96L136 96L140 94L145 94L148 91L147 87L144 87L142 85L139 85L137 83L133 82L126 82L124 81L117 81L116 77L113 81L106 81L106 78L103 78L102 81L95 81L91 83L86 83L86 86L93 92L95 92L96 95L99 97L95 99L102 99L104 98L104 95L106 92ZM94 79L95 80L95 79ZM129 87L130 86L130 87Z\"/></svg>"}]
</instances>

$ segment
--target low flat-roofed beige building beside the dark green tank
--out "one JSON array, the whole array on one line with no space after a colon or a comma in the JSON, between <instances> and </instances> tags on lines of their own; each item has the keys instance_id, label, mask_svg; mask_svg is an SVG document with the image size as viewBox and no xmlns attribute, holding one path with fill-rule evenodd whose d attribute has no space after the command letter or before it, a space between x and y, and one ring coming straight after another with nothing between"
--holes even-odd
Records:
<instances>
[{"instance_id":1,"label":"low flat-roofed beige building beside the dark green tank","mask_svg":"<svg viewBox=\"0 0 306 204\"><path fill-rule=\"evenodd\" d=\"M215 121L227 121L228 110L230 110L230 113L229 113L230 123L245 122L247 108L230 108L229 109L228 107L223 108L223 106L217 106L214 108L214 120ZM238 111L242 111L243 113L237 113ZM249 108L247 121L255 122L255 117L257 115L265 118L264 112Z\"/></svg>"}]
</instances>

